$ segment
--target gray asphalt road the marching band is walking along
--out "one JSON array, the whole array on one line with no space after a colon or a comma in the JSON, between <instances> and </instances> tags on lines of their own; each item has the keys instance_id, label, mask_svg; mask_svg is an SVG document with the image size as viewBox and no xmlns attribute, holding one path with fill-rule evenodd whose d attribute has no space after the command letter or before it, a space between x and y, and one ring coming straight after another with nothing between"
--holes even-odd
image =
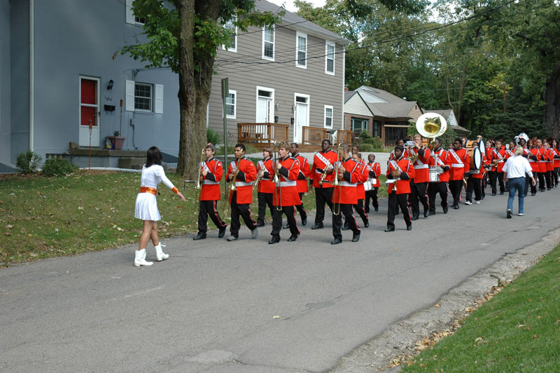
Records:
<instances>
[{"instance_id":1,"label":"gray asphalt road the marching band is walking along","mask_svg":"<svg viewBox=\"0 0 560 373\"><path fill-rule=\"evenodd\" d=\"M560 189L486 196L384 233L386 201L358 243L325 229L268 245L271 226L227 243L166 240L171 257L133 266L136 245L0 269L2 372L324 372L390 325L437 302L507 252L559 226ZM517 213L517 204L514 212ZM312 220L312 219L311 219ZM148 259L155 251L148 247ZM276 317L278 316L278 317Z\"/></svg>"}]
</instances>

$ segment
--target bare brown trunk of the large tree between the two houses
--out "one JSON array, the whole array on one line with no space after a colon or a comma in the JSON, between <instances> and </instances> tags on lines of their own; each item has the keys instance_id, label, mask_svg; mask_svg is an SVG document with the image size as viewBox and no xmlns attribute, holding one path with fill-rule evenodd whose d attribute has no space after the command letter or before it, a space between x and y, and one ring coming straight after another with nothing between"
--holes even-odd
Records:
<instances>
[{"instance_id":1,"label":"bare brown trunk of the large tree between the two houses","mask_svg":"<svg viewBox=\"0 0 560 373\"><path fill-rule=\"evenodd\" d=\"M210 54L195 59L195 13L201 19L218 19L219 1L175 0L179 11L179 160L176 173L184 179L194 180L204 145L207 144L206 112L210 97L214 56ZM202 62L200 62L202 61ZM195 66L200 65L200 72Z\"/></svg>"}]
</instances>

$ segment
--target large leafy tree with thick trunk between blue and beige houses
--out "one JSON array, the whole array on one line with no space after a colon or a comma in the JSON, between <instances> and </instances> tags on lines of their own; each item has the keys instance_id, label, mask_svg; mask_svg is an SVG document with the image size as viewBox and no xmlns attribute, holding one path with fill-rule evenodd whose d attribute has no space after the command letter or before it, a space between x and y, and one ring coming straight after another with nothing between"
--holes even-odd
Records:
<instances>
[{"instance_id":1,"label":"large leafy tree with thick trunk between blue and beige houses","mask_svg":"<svg viewBox=\"0 0 560 373\"><path fill-rule=\"evenodd\" d=\"M263 27L282 13L260 12L254 0L135 0L134 15L144 18L145 41L125 46L146 67L169 67L179 74L179 161L177 173L195 179L200 149L207 141L206 108L218 46L230 46L235 27Z\"/></svg>"}]
</instances>

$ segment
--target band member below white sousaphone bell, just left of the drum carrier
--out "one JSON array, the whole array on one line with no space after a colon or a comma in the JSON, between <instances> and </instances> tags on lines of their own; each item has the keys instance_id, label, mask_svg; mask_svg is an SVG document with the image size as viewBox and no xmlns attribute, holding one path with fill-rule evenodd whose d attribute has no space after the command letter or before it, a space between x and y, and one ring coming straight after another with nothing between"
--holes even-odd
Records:
<instances>
[{"instance_id":1,"label":"band member below white sousaphone bell, just left of the drum carrier","mask_svg":"<svg viewBox=\"0 0 560 373\"><path fill-rule=\"evenodd\" d=\"M412 220L417 220L420 215L419 202L422 203L424 217L430 215L430 205L428 204L428 183L430 182L430 149L422 148L422 136L418 133L414 135L414 147L410 149L410 154L417 154L414 161L414 178L410 182L410 207L412 208ZM397 188L398 189L398 188Z\"/></svg>"}]
</instances>

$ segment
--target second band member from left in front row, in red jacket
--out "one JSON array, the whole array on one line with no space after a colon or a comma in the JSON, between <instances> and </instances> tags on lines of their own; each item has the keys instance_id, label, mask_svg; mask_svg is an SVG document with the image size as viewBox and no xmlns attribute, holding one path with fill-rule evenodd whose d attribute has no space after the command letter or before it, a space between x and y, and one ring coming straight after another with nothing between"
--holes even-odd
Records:
<instances>
[{"instance_id":1,"label":"second band member from left in front row, in red jacket","mask_svg":"<svg viewBox=\"0 0 560 373\"><path fill-rule=\"evenodd\" d=\"M231 191L230 194L232 223L228 241L235 241L239 238L240 216L243 217L245 225L251 231L251 238L257 238L258 236L257 223L251 217L253 181L257 178L257 170L253 161L245 158L245 149L244 144L235 144L234 155L236 159L230 163L225 175L228 182L235 183L235 190Z\"/></svg>"}]
</instances>

